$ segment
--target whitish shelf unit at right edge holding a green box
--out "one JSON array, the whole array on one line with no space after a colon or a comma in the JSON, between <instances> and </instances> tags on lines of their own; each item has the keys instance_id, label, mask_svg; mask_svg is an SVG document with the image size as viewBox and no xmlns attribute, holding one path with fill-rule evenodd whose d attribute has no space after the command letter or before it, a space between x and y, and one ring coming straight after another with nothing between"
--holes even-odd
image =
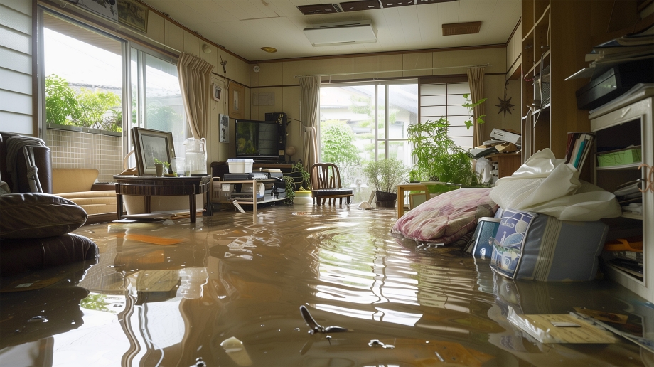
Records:
<instances>
[{"instance_id":1,"label":"whitish shelf unit at right edge holding a green box","mask_svg":"<svg viewBox=\"0 0 654 367\"><path fill-rule=\"evenodd\" d=\"M596 150L640 145L642 157L636 163L599 167L597 157L592 156L594 184L613 192L624 182L648 178L649 170L639 170L638 166L641 163L654 166L653 103L654 85L649 85L591 111L589 117L591 131L596 134ZM654 302L654 191L645 191L642 196L642 214L623 213L621 218L605 221L610 227L609 240L643 236L643 277L614 267L609 262L607 272L612 280ZM611 257L608 253L603 256L606 260Z\"/></svg>"}]
</instances>

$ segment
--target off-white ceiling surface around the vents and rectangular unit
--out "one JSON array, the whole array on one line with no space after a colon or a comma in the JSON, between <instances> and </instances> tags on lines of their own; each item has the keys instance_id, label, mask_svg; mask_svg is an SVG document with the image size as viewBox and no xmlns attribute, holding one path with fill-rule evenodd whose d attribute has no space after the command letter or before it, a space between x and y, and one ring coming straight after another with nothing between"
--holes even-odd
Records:
<instances>
[{"instance_id":1,"label":"off-white ceiling surface around the vents and rectangular unit","mask_svg":"<svg viewBox=\"0 0 654 367\"><path fill-rule=\"evenodd\" d=\"M458 0L349 13L303 15L296 6L328 0L144 0L192 31L250 61L422 50L506 43L520 19L520 0ZM370 20L377 43L313 47L306 26ZM443 36L446 23L481 21L478 34ZM262 47L277 48L266 53Z\"/></svg>"}]
</instances>

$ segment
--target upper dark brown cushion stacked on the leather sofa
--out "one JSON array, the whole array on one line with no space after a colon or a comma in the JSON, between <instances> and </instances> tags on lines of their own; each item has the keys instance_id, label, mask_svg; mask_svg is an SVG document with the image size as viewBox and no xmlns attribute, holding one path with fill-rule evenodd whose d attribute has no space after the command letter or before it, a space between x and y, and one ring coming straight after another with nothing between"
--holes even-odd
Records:
<instances>
[{"instance_id":1,"label":"upper dark brown cushion stacked on the leather sofa","mask_svg":"<svg viewBox=\"0 0 654 367\"><path fill-rule=\"evenodd\" d=\"M73 201L48 193L0 196L0 238L43 238L69 233L88 218Z\"/></svg>"}]
</instances>

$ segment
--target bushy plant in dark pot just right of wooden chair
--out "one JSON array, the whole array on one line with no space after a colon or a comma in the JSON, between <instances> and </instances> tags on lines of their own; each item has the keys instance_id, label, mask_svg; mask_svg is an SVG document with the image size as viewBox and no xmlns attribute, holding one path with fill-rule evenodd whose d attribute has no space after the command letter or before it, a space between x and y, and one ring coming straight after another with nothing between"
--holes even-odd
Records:
<instances>
[{"instance_id":1,"label":"bushy plant in dark pot just right of wooden chair","mask_svg":"<svg viewBox=\"0 0 654 367\"><path fill-rule=\"evenodd\" d=\"M407 182L409 168L398 159L380 159L365 164L363 174L377 191L377 206L395 208L397 185Z\"/></svg>"}]
</instances>

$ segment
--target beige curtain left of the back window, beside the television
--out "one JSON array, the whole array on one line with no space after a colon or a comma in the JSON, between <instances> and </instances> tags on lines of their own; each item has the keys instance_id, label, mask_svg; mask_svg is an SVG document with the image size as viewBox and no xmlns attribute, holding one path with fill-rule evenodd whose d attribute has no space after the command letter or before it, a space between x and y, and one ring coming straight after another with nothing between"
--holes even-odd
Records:
<instances>
[{"instance_id":1,"label":"beige curtain left of the back window, beside the television","mask_svg":"<svg viewBox=\"0 0 654 367\"><path fill-rule=\"evenodd\" d=\"M318 99L320 77L299 77L301 120L304 121L304 167L307 171L318 162Z\"/></svg>"}]
</instances>

